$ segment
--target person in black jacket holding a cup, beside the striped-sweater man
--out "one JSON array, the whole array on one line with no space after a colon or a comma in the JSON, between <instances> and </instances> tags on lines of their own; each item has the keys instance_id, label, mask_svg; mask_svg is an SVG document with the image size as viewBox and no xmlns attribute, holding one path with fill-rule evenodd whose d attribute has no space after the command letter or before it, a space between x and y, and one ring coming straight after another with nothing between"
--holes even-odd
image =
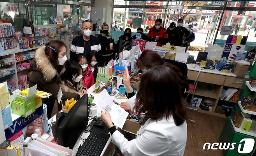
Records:
<instances>
[{"instance_id":1,"label":"person in black jacket holding a cup, beside the striped-sweater man","mask_svg":"<svg viewBox=\"0 0 256 156\"><path fill-rule=\"evenodd\" d=\"M109 33L109 25L107 23L102 24L98 39L100 40L100 45L102 47L102 59L100 59L101 62L99 63L107 65L107 63L113 58L115 47L115 43L112 39L111 33Z\"/></svg>"}]
</instances>

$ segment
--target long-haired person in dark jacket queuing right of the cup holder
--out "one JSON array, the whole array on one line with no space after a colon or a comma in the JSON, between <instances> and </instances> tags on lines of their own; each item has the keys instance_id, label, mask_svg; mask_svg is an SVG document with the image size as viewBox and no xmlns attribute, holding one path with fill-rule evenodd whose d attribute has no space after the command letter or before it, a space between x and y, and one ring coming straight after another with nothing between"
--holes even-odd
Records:
<instances>
[{"instance_id":1,"label":"long-haired person in dark jacket queuing right of the cup holder","mask_svg":"<svg viewBox=\"0 0 256 156\"><path fill-rule=\"evenodd\" d=\"M117 42L117 55L119 56L120 52L123 52L123 50L131 50L132 49L132 30L130 28L126 28L124 31L124 35L119 37L119 40Z\"/></svg>"}]
</instances>

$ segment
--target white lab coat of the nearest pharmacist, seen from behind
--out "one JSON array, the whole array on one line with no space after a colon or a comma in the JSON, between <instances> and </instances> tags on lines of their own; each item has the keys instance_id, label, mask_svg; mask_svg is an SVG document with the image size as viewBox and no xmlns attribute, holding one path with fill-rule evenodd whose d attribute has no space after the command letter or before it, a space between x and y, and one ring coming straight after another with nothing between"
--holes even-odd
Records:
<instances>
[{"instance_id":1,"label":"white lab coat of the nearest pharmacist, seen from behind","mask_svg":"<svg viewBox=\"0 0 256 156\"><path fill-rule=\"evenodd\" d=\"M172 117L160 121L148 119L131 141L118 130L112 135L112 142L124 156L182 156L186 141L186 121L176 126Z\"/></svg>"}]
</instances>

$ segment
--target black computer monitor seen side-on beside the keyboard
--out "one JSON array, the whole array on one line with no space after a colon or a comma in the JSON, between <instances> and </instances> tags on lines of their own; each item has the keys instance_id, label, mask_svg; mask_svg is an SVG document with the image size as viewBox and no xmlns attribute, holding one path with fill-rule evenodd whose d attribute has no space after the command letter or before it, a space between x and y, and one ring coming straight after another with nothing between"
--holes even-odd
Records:
<instances>
[{"instance_id":1,"label":"black computer monitor seen side-on beside the keyboard","mask_svg":"<svg viewBox=\"0 0 256 156\"><path fill-rule=\"evenodd\" d=\"M88 125L88 94L70 109L58 127L59 145L73 149L84 127Z\"/></svg>"}]
</instances>

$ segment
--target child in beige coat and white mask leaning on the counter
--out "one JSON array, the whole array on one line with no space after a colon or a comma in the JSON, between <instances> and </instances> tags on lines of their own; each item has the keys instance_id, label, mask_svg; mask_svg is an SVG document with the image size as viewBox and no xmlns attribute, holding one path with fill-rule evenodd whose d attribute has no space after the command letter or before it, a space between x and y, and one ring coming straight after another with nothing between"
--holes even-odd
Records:
<instances>
[{"instance_id":1,"label":"child in beige coat and white mask leaning on the counter","mask_svg":"<svg viewBox=\"0 0 256 156\"><path fill-rule=\"evenodd\" d=\"M82 66L77 62L67 62L67 68L60 76L61 90L70 93L82 92L87 94L87 88L82 85Z\"/></svg>"}]
</instances>

